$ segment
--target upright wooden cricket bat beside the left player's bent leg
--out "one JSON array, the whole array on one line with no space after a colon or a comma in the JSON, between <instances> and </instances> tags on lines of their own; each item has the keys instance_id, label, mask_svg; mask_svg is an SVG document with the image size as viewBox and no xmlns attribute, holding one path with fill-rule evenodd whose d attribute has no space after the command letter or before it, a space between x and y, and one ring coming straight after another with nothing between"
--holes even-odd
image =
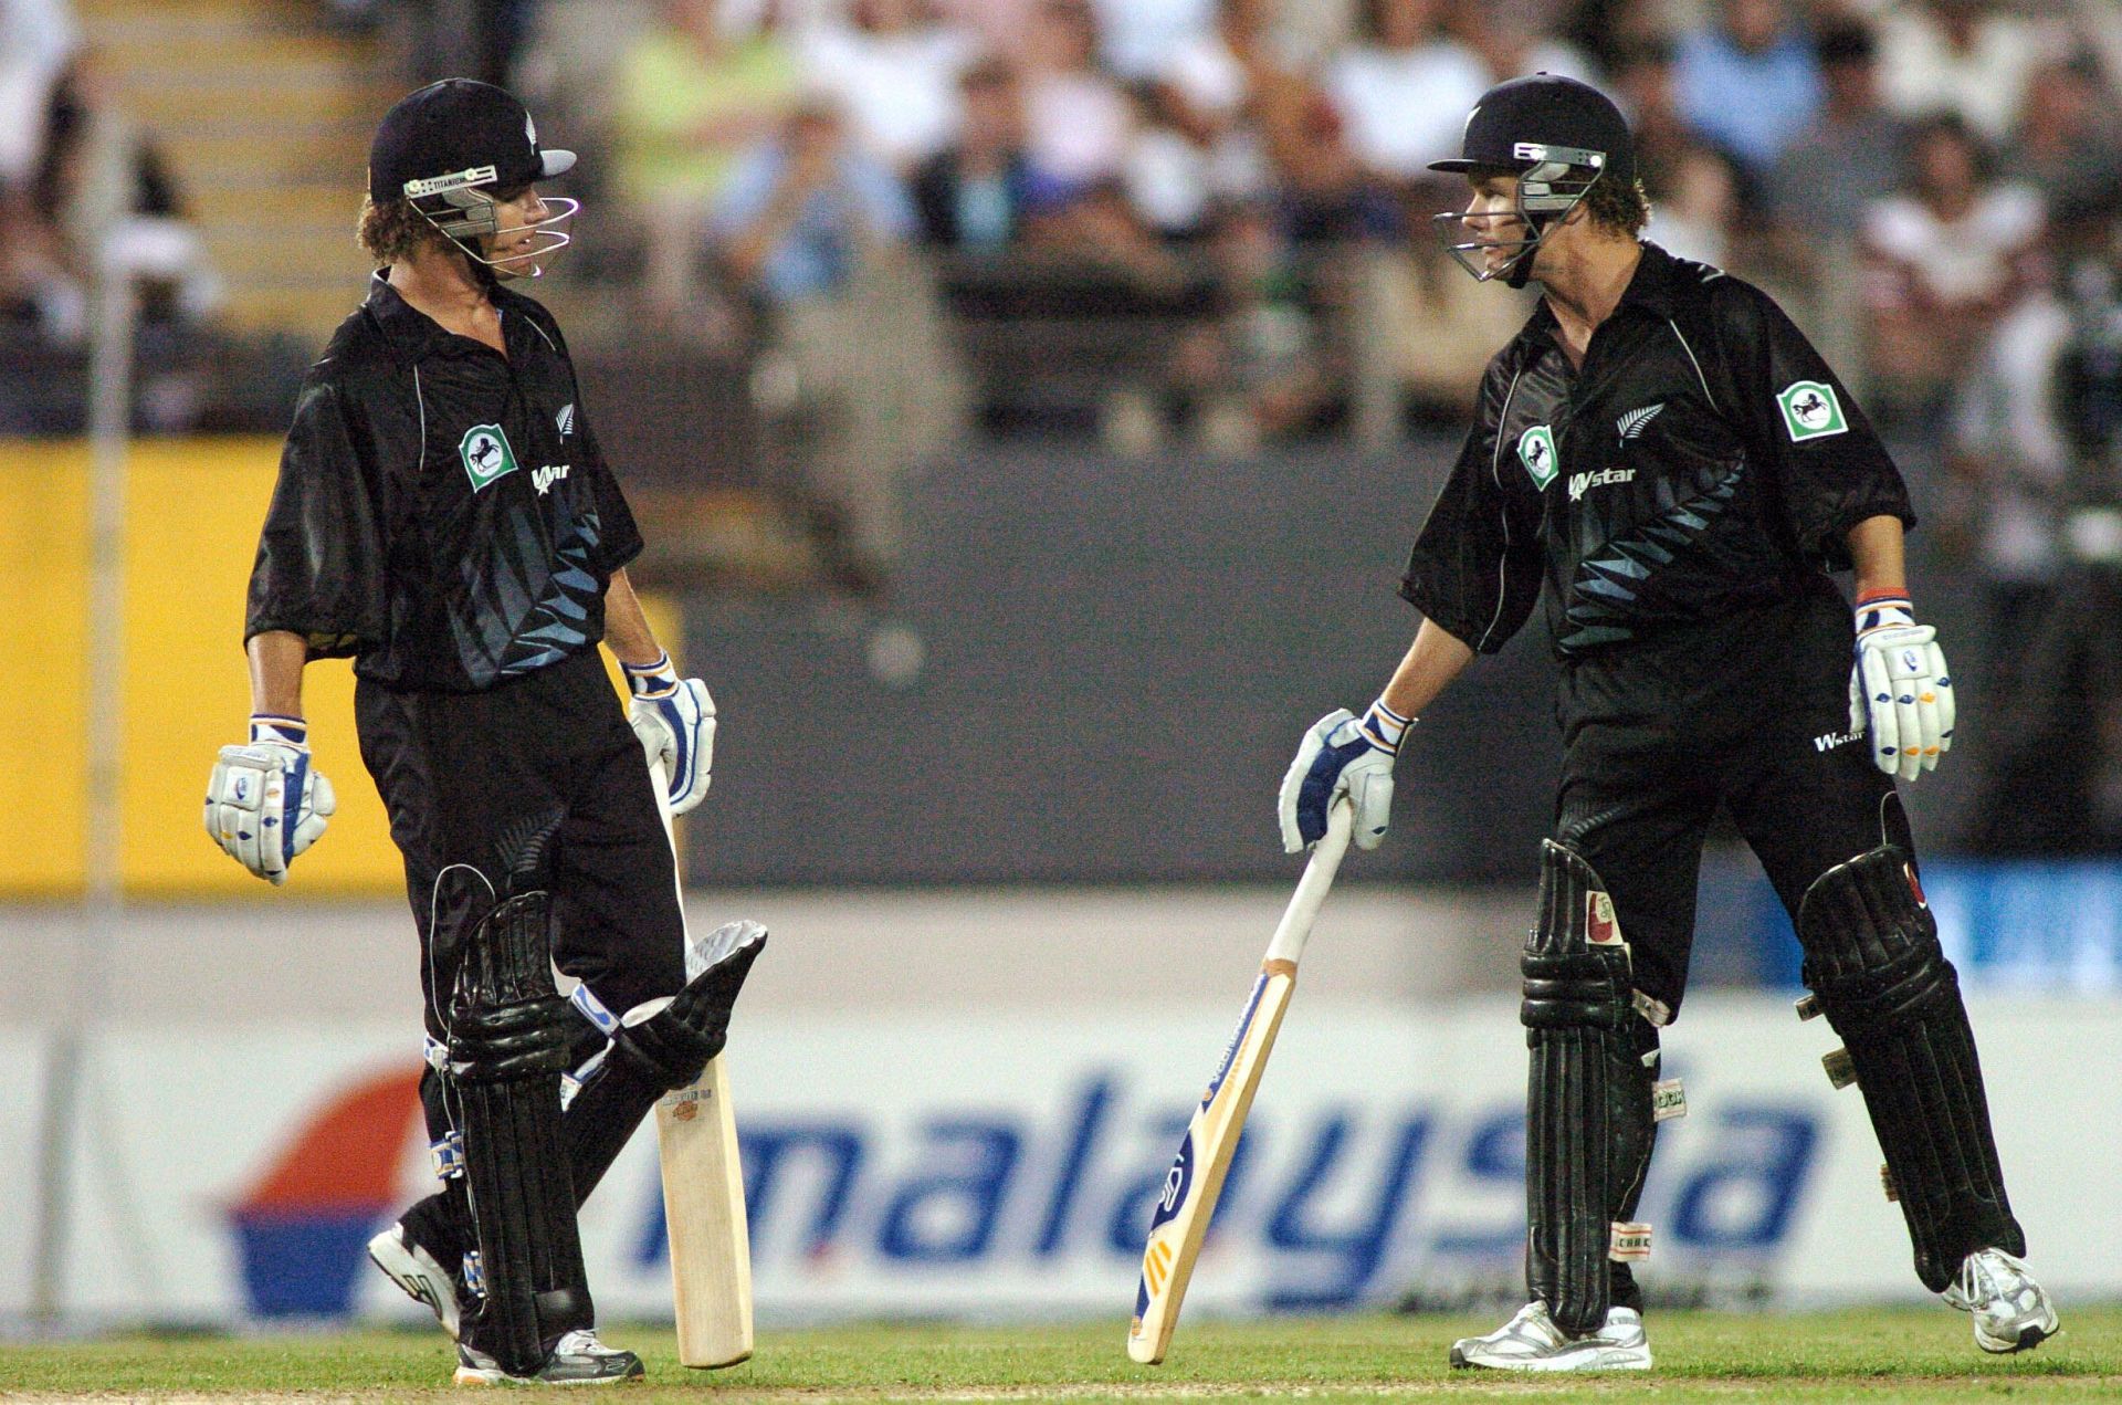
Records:
<instances>
[{"instance_id":1,"label":"upright wooden cricket bat beside the left player's bent leg","mask_svg":"<svg viewBox=\"0 0 2122 1405\"><path fill-rule=\"evenodd\" d=\"M671 790L662 762L649 766L649 783L664 834L671 834ZM675 836L671 847L677 849ZM688 981L698 974L692 966L688 938ZM734 1367L751 1356L751 1229L745 1222L745 1167L736 1155L736 1112L721 1055L707 1061L692 1087L656 1099L656 1146L671 1233L677 1358L688 1367Z\"/></svg>"}]
</instances>

